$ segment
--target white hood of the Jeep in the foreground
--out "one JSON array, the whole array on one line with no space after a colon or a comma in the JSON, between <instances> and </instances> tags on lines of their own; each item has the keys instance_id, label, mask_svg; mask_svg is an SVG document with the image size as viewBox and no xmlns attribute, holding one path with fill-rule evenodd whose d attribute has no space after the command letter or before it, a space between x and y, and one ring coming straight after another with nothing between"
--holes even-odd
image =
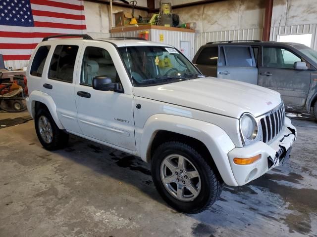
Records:
<instances>
[{"instance_id":1,"label":"white hood of the Jeep in the foreground","mask_svg":"<svg viewBox=\"0 0 317 237\"><path fill-rule=\"evenodd\" d=\"M245 112L258 117L281 103L276 91L245 82L202 78L164 85L133 87L135 96L240 118Z\"/></svg>"}]
</instances>

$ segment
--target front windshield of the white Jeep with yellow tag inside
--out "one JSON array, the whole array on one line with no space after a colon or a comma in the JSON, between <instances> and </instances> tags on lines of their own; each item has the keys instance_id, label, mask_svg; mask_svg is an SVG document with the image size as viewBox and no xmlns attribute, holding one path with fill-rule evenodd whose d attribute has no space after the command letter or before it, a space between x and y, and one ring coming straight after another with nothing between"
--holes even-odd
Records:
<instances>
[{"instance_id":1,"label":"front windshield of the white Jeep with yellow tag inside","mask_svg":"<svg viewBox=\"0 0 317 237\"><path fill-rule=\"evenodd\" d=\"M130 63L134 86L204 77L184 55L172 47L129 46L119 47L118 50L129 73Z\"/></svg>"}]
</instances>

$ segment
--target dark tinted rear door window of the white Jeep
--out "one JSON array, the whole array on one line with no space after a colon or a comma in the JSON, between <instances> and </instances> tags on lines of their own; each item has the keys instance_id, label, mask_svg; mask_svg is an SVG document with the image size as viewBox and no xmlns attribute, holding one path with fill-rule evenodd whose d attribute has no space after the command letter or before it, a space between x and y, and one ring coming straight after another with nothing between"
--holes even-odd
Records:
<instances>
[{"instance_id":1,"label":"dark tinted rear door window of the white Jeep","mask_svg":"<svg viewBox=\"0 0 317 237\"><path fill-rule=\"evenodd\" d=\"M77 45L57 45L50 65L49 78L73 82Z\"/></svg>"}]
</instances>

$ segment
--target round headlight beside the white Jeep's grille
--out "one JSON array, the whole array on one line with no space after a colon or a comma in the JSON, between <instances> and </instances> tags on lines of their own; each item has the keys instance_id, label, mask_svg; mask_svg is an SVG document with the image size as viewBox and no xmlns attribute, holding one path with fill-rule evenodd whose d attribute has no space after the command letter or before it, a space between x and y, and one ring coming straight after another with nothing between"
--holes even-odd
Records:
<instances>
[{"instance_id":1,"label":"round headlight beside the white Jeep's grille","mask_svg":"<svg viewBox=\"0 0 317 237\"><path fill-rule=\"evenodd\" d=\"M258 136L258 124L251 114L243 114L240 118L240 132L244 145L248 145Z\"/></svg>"}]
</instances>

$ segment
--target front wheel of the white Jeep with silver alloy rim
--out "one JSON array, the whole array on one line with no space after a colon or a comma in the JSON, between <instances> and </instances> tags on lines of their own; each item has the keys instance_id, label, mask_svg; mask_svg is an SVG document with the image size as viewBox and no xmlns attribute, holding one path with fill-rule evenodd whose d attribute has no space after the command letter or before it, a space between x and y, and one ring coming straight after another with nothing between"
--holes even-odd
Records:
<instances>
[{"instance_id":1,"label":"front wheel of the white Jeep with silver alloy rim","mask_svg":"<svg viewBox=\"0 0 317 237\"><path fill-rule=\"evenodd\" d=\"M223 187L223 181L203 156L182 142L161 144L154 152L151 172L160 196L180 212L206 210Z\"/></svg>"}]
</instances>

